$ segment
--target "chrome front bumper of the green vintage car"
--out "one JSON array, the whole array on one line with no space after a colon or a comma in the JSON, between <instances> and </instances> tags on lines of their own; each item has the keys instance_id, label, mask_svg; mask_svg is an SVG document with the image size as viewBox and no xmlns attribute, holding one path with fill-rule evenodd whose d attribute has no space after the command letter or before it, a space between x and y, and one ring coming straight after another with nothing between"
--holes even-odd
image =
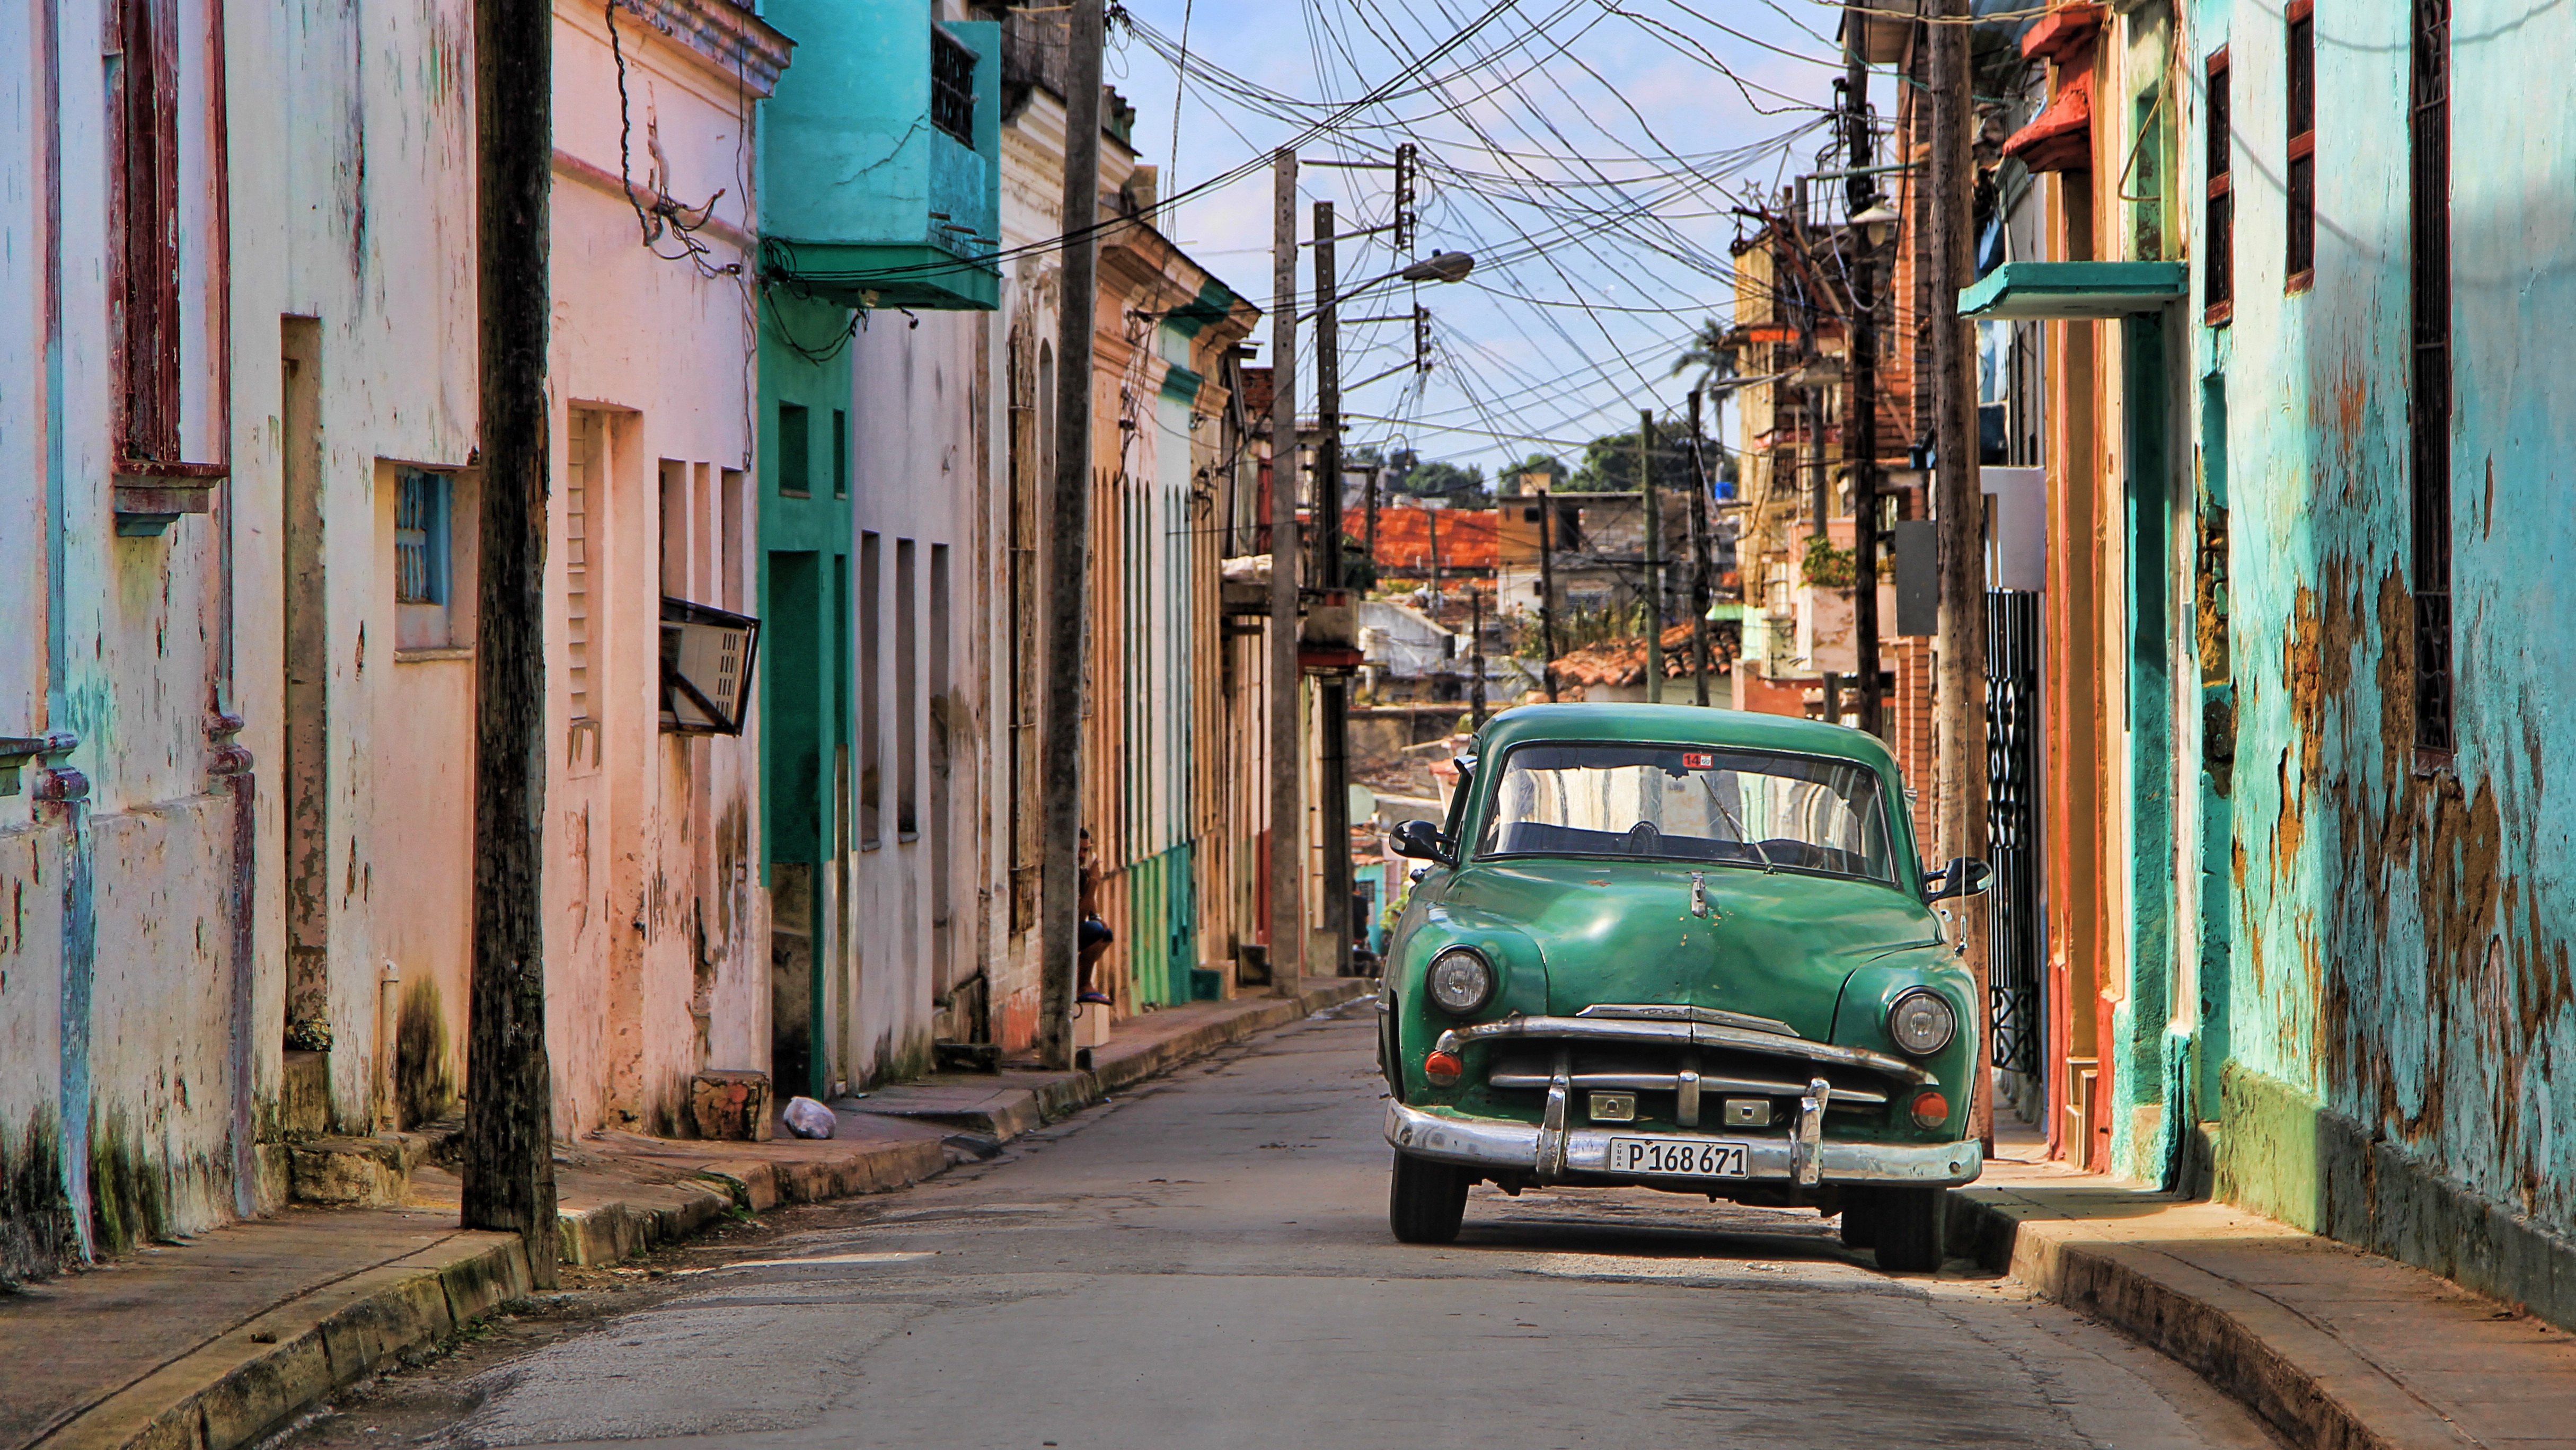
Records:
<instances>
[{"instance_id":1,"label":"chrome front bumper of the green vintage car","mask_svg":"<svg viewBox=\"0 0 2576 1450\"><path fill-rule=\"evenodd\" d=\"M1744 1177L1677 1180L1654 1177L1633 1182L1878 1182L1911 1187L1958 1187L1976 1182L1986 1169L1986 1154L1976 1141L1960 1144L1832 1144L1821 1141L1801 1149L1798 1138L1759 1138L1723 1133L1667 1133L1656 1128L1561 1128L1538 1123L1512 1123L1502 1118L1443 1118L1401 1102L1386 1105L1386 1141L1399 1154L1466 1164L1479 1169L1522 1169L1540 1182L1564 1174L1607 1174L1610 1138L1695 1138L1710 1144L1744 1144ZM1808 1172L1801 1159L1814 1154Z\"/></svg>"}]
</instances>

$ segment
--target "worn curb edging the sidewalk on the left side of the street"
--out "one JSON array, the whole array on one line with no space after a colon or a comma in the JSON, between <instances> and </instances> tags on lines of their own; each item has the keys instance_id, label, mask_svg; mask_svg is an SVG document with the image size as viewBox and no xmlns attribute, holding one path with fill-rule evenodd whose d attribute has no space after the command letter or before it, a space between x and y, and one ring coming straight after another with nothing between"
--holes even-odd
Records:
<instances>
[{"instance_id":1,"label":"worn curb edging the sidewalk on the left side of the street","mask_svg":"<svg viewBox=\"0 0 2576 1450\"><path fill-rule=\"evenodd\" d=\"M1298 1017L1363 997L1376 984L1280 997L1257 1012L1206 1022L1177 1038L1095 1061L1038 1097L1043 1120L1066 1118L1110 1092L1170 1071ZM1036 1123L1030 1123L1036 1125ZM641 1190L636 1200L559 1216L569 1265L613 1265L696 1236L726 1210L822 1203L904 1187L948 1167L933 1141L886 1144L835 1162L711 1162L690 1182ZM31 1450L232 1450L273 1435L332 1391L433 1344L513 1298L531 1293L528 1254L515 1234L459 1229L438 1244L361 1270L265 1308L170 1360L46 1432ZM258 1337L258 1339L255 1339Z\"/></svg>"}]
</instances>

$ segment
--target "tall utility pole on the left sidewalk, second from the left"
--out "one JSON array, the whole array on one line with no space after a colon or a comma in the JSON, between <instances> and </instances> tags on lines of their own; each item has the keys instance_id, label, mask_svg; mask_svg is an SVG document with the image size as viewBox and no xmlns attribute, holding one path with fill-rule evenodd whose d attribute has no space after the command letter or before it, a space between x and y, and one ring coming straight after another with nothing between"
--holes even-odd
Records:
<instances>
[{"instance_id":1,"label":"tall utility pole on the left sidewalk, second from the left","mask_svg":"<svg viewBox=\"0 0 2576 1450\"><path fill-rule=\"evenodd\" d=\"M1048 500L1038 780L1038 1059L1074 1066L1082 940L1082 652L1092 618L1092 312L1100 283L1100 0L1072 0L1064 59L1064 286L1056 294L1056 487Z\"/></svg>"}]
</instances>

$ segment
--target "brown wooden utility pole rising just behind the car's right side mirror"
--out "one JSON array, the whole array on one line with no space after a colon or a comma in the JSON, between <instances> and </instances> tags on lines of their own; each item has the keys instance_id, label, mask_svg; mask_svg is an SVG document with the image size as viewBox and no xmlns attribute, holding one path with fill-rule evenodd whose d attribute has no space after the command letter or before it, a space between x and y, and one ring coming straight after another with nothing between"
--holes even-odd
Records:
<instances>
[{"instance_id":1,"label":"brown wooden utility pole rising just behind the car's right side mirror","mask_svg":"<svg viewBox=\"0 0 2576 1450\"><path fill-rule=\"evenodd\" d=\"M1986 855L1986 549L1978 497L1976 386L1968 325L1958 294L1968 273L1968 209L1976 170L1968 134L1968 0L1940 0L1932 18L1932 399L1940 464L1935 538L1940 541L1940 834L1942 855ZM1976 976L1976 1079L1968 1131L1994 1138L1994 1061L1986 899L1960 896L1960 940Z\"/></svg>"}]
</instances>

